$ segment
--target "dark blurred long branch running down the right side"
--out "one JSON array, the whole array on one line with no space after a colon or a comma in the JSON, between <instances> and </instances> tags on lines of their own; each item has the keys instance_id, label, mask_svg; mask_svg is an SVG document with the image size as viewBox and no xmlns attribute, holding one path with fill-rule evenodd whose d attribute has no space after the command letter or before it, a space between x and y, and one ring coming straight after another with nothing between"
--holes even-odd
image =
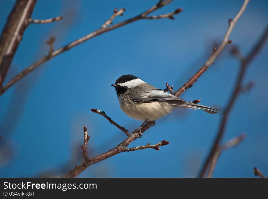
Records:
<instances>
[{"instance_id":1,"label":"dark blurred long branch running down the right side","mask_svg":"<svg viewBox=\"0 0 268 199\"><path fill-rule=\"evenodd\" d=\"M241 62L240 71L238 73L238 77L234 86L234 90L231 94L230 100L228 101L228 104L223 112L223 116L221 118L219 130L217 133L217 137L213 143L213 147L210 150L209 155L206 158L206 161L202 167L202 170L199 174L199 177L204 177L206 170L209 166L210 160L215 156L215 153L217 152L217 146L219 145L224 132L225 127L227 125L228 116L231 112L231 109L234 106L235 101L237 100L238 95L241 93L242 83L245 77L246 69L249 65L249 63L252 61L252 59L256 56L256 54L259 52L259 50L263 47L266 39L268 37L268 26L266 27L263 35L260 37L259 41L255 44L255 46L252 48L252 50L249 52L248 56L244 59L244 61Z\"/></svg>"}]
</instances>

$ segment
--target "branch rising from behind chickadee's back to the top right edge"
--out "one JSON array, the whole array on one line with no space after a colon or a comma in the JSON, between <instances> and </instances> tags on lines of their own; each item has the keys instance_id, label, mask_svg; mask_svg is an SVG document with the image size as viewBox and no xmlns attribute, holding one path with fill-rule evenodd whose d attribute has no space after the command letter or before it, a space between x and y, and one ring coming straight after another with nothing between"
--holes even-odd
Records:
<instances>
[{"instance_id":1,"label":"branch rising from behind chickadee's back to the top right edge","mask_svg":"<svg viewBox=\"0 0 268 199\"><path fill-rule=\"evenodd\" d=\"M216 51L214 51L212 53L212 55L208 58L206 63L198 70L198 72L194 76L192 76L192 78L189 79L189 81L186 82L180 89L178 89L178 91L175 92L176 97L179 97L184 91L186 91L188 88L192 87L193 83L195 83L197 81L197 79L208 69L208 67L210 67L210 65L214 63L214 60L218 57L218 55L221 53L221 51L224 49L224 47L228 43L231 43L231 40L228 40L229 36L234 28L234 25L236 24L238 19L241 17L243 12L245 11L248 3L249 3L249 0L245 0L240 11L235 16L234 20L233 21L229 20L229 27L227 29L227 32L226 32L224 39L221 42L220 46L217 48Z\"/></svg>"}]
</instances>

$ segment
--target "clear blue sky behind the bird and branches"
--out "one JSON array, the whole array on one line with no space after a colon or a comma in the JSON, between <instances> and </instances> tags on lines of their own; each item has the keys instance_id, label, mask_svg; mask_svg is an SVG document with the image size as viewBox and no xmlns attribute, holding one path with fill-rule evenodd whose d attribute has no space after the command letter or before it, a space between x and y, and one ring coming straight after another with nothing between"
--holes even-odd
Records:
<instances>
[{"instance_id":1,"label":"clear blue sky behind the bird and branches","mask_svg":"<svg viewBox=\"0 0 268 199\"><path fill-rule=\"evenodd\" d=\"M156 4L150 1L44 1L39 0L33 19L63 15L60 22L30 25L19 45L5 83L48 52L45 42L55 36L54 49L101 27L113 9L126 8L114 23ZM1 177L35 177L81 156L83 126L90 134L89 153L95 156L125 139L105 118L90 112L101 109L130 131L139 121L120 110L110 84L122 74L134 74L164 89L179 88L201 67L223 39L228 19L239 1L173 1L154 12L182 8L175 20L140 20L93 38L41 65L0 96L2 135ZM14 1L2 1L0 28ZM267 26L268 2L251 1L231 33L233 44L246 55ZM182 94L187 101L224 107L234 87L239 62L230 45L192 88ZM268 175L267 121L268 45L250 64L245 83L254 88L238 97L231 111L223 142L242 132L246 139L222 153L213 177L253 177L257 166ZM176 110L161 118L131 146L171 142L159 151L146 149L122 153L90 166L79 177L195 177L216 136L221 114ZM67 171L78 162L67 166ZM65 168L66 169L66 168Z\"/></svg>"}]
</instances>

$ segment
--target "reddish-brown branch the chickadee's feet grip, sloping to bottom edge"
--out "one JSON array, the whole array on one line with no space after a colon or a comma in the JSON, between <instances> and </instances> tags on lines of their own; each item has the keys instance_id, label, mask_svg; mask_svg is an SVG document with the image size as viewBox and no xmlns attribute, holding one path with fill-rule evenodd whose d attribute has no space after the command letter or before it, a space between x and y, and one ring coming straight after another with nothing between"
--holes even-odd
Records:
<instances>
[{"instance_id":1,"label":"reddish-brown branch the chickadee's feet grip, sloping to bottom edge","mask_svg":"<svg viewBox=\"0 0 268 199\"><path fill-rule=\"evenodd\" d=\"M142 127L141 132L145 132L152 126L153 122L146 122L146 124ZM67 173L64 177L76 177L79 175L79 173L83 172L87 167L89 167L92 164L101 162L102 160L105 160L111 156L114 156L118 153L125 152L126 147L129 146L131 142L136 140L139 137L139 132L132 132L129 134L129 136L120 144L118 144L113 149L110 149L102 154L99 154L93 158L89 158L85 160L83 163L81 163L79 166L75 166L69 173Z\"/></svg>"}]
</instances>

